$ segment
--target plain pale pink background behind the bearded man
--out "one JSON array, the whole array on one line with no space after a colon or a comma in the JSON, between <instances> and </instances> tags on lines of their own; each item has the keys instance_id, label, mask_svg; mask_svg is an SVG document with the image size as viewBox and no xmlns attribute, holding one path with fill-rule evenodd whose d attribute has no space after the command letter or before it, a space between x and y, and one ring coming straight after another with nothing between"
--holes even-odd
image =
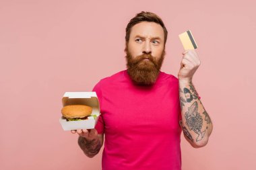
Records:
<instances>
[{"instance_id":1,"label":"plain pale pink background behind the bearded man","mask_svg":"<svg viewBox=\"0 0 256 170\"><path fill-rule=\"evenodd\" d=\"M100 169L59 124L65 91L91 91L125 69L125 27L140 11L169 35L162 71L177 76L191 30L193 82L214 122L210 141L182 136L184 170L255 167L255 1L0 1L0 169Z\"/></svg>"}]
</instances>

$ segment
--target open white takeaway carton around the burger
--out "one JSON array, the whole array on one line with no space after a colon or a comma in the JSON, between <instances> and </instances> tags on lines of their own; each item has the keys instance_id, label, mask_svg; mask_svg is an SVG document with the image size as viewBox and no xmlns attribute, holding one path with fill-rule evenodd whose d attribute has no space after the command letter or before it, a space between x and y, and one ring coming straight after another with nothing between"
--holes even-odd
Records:
<instances>
[{"instance_id":1,"label":"open white takeaway carton around the burger","mask_svg":"<svg viewBox=\"0 0 256 170\"><path fill-rule=\"evenodd\" d=\"M62 117L59 119L63 130L92 129L96 126L100 116L100 102L96 92L66 92L62 98L63 107L65 105L82 104L92 107L92 114L88 120L67 121Z\"/></svg>"}]
</instances>

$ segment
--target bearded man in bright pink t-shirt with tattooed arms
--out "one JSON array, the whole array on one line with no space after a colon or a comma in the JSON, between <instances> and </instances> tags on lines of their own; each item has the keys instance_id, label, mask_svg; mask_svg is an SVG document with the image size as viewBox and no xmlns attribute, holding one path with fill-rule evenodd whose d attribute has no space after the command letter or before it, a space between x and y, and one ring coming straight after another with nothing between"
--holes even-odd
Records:
<instances>
[{"instance_id":1,"label":"bearded man in bright pink t-shirt with tattooed arms","mask_svg":"<svg viewBox=\"0 0 256 170\"><path fill-rule=\"evenodd\" d=\"M205 146L212 121L193 87L200 65L195 50L183 52L178 78L160 68L167 30L158 15L137 13L126 28L127 70L93 89L101 116L95 129L72 130L88 157L103 144L102 169L181 169L181 131L195 148ZM185 100L186 93L194 97Z\"/></svg>"}]
</instances>

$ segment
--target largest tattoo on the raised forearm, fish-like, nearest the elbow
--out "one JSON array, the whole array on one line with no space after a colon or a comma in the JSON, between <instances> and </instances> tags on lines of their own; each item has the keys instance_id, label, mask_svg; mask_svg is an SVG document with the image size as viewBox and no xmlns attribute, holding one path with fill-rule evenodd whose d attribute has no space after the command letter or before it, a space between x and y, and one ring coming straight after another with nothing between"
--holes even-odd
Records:
<instances>
[{"instance_id":1,"label":"largest tattoo on the raised forearm, fish-like, nearest the elbow","mask_svg":"<svg viewBox=\"0 0 256 170\"><path fill-rule=\"evenodd\" d=\"M202 116L197 112L198 104L195 101L189 108L189 111L185 113L186 124L189 127L189 130L193 130L198 134L196 141L201 140L205 134L205 130L201 132L203 126Z\"/></svg>"}]
</instances>

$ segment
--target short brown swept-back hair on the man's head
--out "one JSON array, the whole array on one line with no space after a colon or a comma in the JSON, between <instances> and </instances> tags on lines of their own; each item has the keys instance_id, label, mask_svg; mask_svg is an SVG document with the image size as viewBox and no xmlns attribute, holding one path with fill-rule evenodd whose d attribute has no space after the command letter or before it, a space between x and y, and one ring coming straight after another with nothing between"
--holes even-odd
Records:
<instances>
[{"instance_id":1,"label":"short brown swept-back hair on the man's head","mask_svg":"<svg viewBox=\"0 0 256 170\"><path fill-rule=\"evenodd\" d=\"M133 17L130 22L127 24L127 27L125 29L126 35L125 35L125 41L126 43L129 42L130 34L131 34L131 28L135 26L136 24L139 24L140 22L155 22L156 24L160 24L162 28L164 29L164 46L166 44L168 32L164 26L164 22L162 22L162 19L156 15L155 13L148 12L148 11L141 11L140 13L137 13L135 17Z\"/></svg>"}]
</instances>

